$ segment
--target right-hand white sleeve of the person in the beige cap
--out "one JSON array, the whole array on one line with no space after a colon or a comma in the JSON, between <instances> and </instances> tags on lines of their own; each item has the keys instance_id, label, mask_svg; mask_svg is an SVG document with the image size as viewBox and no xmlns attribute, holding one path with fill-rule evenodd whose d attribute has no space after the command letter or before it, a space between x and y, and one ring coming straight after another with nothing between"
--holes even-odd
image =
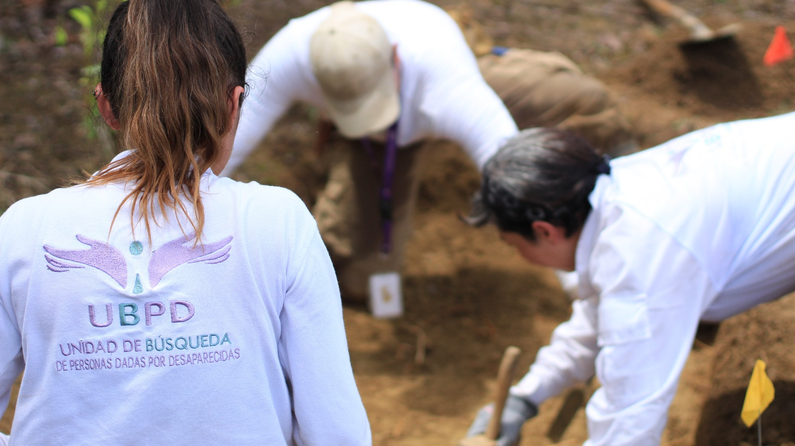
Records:
<instances>
[{"instance_id":1,"label":"right-hand white sleeve of the person in the beige cap","mask_svg":"<svg viewBox=\"0 0 795 446\"><path fill-rule=\"evenodd\" d=\"M449 33L454 38L422 61L422 111L431 118L433 136L457 142L483 169L518 128L502 99L483 80L456 23L444 17L437 28L437 36Z\"/></svg>"}]
</instances>

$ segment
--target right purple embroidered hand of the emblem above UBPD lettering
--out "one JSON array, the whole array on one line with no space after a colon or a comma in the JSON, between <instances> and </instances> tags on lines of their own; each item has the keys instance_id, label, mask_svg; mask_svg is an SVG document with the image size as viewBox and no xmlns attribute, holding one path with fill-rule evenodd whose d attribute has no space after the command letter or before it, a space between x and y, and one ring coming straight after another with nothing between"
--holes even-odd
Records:
<instances>
[{"instance_id":1,"label":"right purple embroidered hand of the emblem above UBPD lettering","mask_svg":"<svg viewBox=\"0 0 795 446\"><path fill-rule=\"evenodd\" d=\"M184 263L220 263L229 258L229 251L232 246L230 235L226 239L218 242L207 243L205 245L183 246L184 243L192 241L196 233L192 232L184 237L177 237L171 242L158 248L149 260L149 286L155 287L165 276L165 273L173 270Z\"/></svg>"}]
</instances>

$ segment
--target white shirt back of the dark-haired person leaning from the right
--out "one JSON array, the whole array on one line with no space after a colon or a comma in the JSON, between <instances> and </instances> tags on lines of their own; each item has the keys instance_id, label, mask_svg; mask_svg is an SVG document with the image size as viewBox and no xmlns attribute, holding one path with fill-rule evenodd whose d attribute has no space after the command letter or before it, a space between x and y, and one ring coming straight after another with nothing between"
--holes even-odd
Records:
<instances>
[{"instance_id":1,"label":"white shirt back of the dark-haired person leaning from the right","mask_svg":"<svg viewBox=\"0 0 795 446\"><path fill-rule=\"evenodd\" d=\"M793 283L781 280L795 237L793 125L795 114L712 126L619 158L600 179L601 200L638 211L704 268L716 294L702 297L703 319L781 297Z\"/></svg>"}]
</instances>

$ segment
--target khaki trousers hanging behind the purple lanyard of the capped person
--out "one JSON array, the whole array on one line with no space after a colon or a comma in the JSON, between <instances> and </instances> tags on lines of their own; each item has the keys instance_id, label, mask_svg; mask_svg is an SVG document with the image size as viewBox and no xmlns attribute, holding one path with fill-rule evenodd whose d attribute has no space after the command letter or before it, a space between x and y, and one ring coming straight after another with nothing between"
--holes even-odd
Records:
<instances>
[{"instance_id":1,"label":"khaki trousers hanging behind the purple lanyard of the capped person","mask_svg":"<svg viewBox=\"0 0 795 446\"><path fill-rule=\"evenodd\" d=\"M372 146L371 159L358 140L335 136L327 142L328 183L312 209L332 256L343 299L347 301L366 301L370 274L401 270L417 204L423 158L421 144L397 149L391 252L382 254L378 199L385 150L384 145L376 142Z\"/></svg>"}]
</instances>

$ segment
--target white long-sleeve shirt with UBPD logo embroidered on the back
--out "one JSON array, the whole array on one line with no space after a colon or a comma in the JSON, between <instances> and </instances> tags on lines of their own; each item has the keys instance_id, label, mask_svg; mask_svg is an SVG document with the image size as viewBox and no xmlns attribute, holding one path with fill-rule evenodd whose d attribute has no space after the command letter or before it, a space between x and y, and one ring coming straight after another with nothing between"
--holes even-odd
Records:
<instances>
[{"instance_id":1,"label":"white long-sleeve shirt with UBPD logo embroidered on the back","mask_svg":"<svg viewBox=\"0 0 795 446\"><path fill-rule=\"evenodd\" d=\"M128 207L109 233L121 184L0 217L0 407L25 369L10 444L370 444L312 215L210 171L201 191L195 249L173 216L133 236Z\"/></svg>"}]
</instances>

